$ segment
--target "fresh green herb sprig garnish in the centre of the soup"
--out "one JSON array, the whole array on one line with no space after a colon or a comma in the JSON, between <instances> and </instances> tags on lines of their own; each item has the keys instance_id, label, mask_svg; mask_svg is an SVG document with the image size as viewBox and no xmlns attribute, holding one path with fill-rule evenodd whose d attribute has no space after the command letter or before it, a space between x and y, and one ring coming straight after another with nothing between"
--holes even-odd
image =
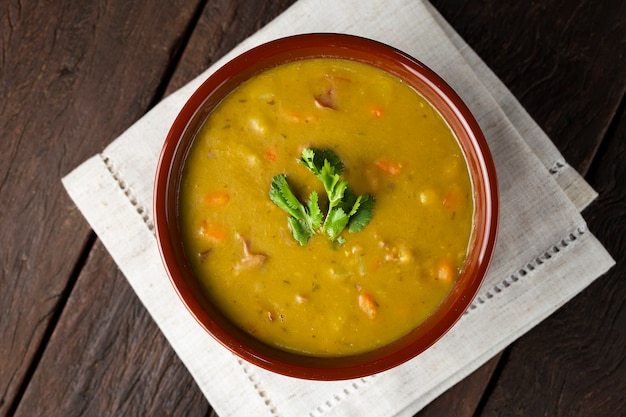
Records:
<instances>
[{"instance_id":1,"label":"fresh green herb sprig garnish in the centre of the soup","mask_svg":"<svg viewBox=\"0 0 626 417\"><path fill-rule=\"evenodd\" d=\"M305 204L289 188L285 174L276 175L270 186L270 199L289 215L288 224L295 240L304 246L315 234L326 234L340 244L340 236L347 227L349 232L359 232L370 222L374 211L374 197L356 196L342 179L344 165L330 149L304 149L299 162L306 166L324 185L328 197L326 213L319 206L319 196L313 191Z\"/></svg>"}]
</instances>

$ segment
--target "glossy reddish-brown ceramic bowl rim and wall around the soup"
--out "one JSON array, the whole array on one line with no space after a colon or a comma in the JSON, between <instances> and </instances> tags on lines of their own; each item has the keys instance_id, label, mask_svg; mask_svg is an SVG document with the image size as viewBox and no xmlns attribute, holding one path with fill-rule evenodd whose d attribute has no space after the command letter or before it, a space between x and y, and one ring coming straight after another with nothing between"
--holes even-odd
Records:
<instances>
[{"instance_id":1,"label":"glossy reddish-brown ceramic bowl rim and wall around the soup","mask_svg":"<svg viewBox=\"0 0 626 417\"><path fill-rule=\"evenodd\" d=\"M203 294L180 239L177 199L186 153L211 110L240 83L270 67L304 58L344 58L392 73L438 109L465 152L474 186L476 213L466 265L451 293L418 328L377 350L348 357L319 358L270 347L230 323ZM461 317L474 298L493 254L498 224L494 164L478 123L459 96L414 58L371 40L337 34L308 34L254 48L218 69L191 96L165 140L155 180L154 218L163 262L189 312L222 345L262 368L304 379L337 380L378 373L419 355Z\"/></svg>"}]
</instances>

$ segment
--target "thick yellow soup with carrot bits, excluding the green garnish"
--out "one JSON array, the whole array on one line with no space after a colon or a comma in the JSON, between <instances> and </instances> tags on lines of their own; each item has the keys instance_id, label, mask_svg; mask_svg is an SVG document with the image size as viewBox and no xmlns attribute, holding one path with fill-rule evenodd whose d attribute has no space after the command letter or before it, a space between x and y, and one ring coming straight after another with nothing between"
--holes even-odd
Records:
<instances>
[{"instance_id":1,"label":"thick yellow soup with carrot bits, excluding the green garnish","mask_svg":"<svg viewBox=\"0 0 626 417\"><path fill-rule=\"evenodd\" d=\"M269 190L285 174L300 201L315 190L328 204L298 162L305 148L335 152L350 188L375 198L362 231L294 240ZM284 350L343 356L400 338L444 300L474 201L456 138L415 90L365 64L310 59L256 76L211 113L179 211L192 267L230 320Z\"/></svg>"}]
</instances>

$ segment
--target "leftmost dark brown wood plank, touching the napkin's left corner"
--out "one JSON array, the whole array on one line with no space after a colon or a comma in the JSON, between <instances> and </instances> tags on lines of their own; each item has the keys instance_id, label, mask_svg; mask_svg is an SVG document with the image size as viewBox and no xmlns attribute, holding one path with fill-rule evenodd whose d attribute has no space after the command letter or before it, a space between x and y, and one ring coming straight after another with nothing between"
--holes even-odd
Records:
<instances>
[{"instance_id":1,"label":"leftmost dark brown wood plank, touching the napkin's left corner","mask_svg":"<svg viewBox=\"0 0 626 417\"><path fill-rule=\"evenodd\" d=\"M1 3L0 416L19 400L90 235L60 179L145 113L195 7Z\"/></svg>"}]
</instances>

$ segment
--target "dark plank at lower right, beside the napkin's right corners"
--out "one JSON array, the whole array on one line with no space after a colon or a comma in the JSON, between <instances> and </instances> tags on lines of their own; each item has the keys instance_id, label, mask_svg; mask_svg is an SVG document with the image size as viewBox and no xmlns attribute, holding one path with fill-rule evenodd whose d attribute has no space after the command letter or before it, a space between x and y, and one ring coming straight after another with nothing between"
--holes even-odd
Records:
<instances>
[{"instance_id":1,"label":"dark plank at lower right, beside the napkin's right corners","mask_svg":"<svg viewBox=\"0 0 626 417\"><path fill-rule=\"evenodd\" d=\"M513 346L484 417L626 415L626 106L598 156L585 215L617 266Z\"/></svg>"}]
</instances>

